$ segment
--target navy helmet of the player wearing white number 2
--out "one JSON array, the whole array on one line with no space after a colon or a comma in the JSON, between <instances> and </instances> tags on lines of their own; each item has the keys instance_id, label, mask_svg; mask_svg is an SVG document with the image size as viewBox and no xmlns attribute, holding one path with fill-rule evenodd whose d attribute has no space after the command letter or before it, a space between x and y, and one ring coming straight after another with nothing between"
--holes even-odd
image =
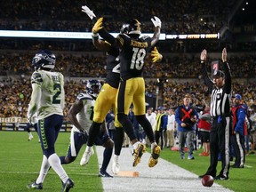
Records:
<instances>
[{"instance_id":1,"label":"navy helmet of the player wearing white number 2","mask_svg":"<svg viewBox=\"0 0 256 192\"><path fill-rule=\"evenodd\" d=\"M35 69L39 69L39 68L52 69L52 68L55 68L55 62L56 62L55 55L50 51L43 50L40 52L36 52L36 55L32 59L32 66Z\"/></svg>"}]
</instances>

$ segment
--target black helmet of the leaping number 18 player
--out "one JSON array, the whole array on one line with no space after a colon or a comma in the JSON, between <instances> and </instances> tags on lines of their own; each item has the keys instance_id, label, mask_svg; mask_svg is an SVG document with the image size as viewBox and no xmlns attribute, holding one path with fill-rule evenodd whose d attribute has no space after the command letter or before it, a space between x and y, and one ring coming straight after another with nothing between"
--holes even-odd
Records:
<instances>
[{"instance_id":1,"label":"black helmet of the leaping number 18 player","mask_svg":"<svg viewBox=\"0 0 256 192\"><path fill-rule=\"evenodd\" d=\"M139 20L132 19L125 22L120 30L123 34L141 34L141 24Z\"/></svg>"}]
</instances>

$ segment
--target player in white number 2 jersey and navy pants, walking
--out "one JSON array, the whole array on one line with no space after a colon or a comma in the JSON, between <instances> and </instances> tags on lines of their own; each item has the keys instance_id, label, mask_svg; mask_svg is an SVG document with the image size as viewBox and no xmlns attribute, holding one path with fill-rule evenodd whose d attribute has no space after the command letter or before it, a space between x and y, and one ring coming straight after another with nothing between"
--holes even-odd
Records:
<instances>
[{"instance_id":1,"label":"player in white number 2 jersey and navy pants, walking","mask_svg":"<svg viewBox=\"0 0 256 192\"><path fill-rule=\"evenodd\" d=\"M35 72L31 76L32 94L28 106L28 121L37 113L38 134L43 150L43 162L37 180L28 184L28 188L43 189L44 178L50 167L62 181L62 190L69 191L74 182L60 164L60 158L55 153L55 141L58 138L63 122L65 100L64 76L60 72L52 72L56 57L52 52L37 52L32 60Z\"/></svg>"}]
</instances>

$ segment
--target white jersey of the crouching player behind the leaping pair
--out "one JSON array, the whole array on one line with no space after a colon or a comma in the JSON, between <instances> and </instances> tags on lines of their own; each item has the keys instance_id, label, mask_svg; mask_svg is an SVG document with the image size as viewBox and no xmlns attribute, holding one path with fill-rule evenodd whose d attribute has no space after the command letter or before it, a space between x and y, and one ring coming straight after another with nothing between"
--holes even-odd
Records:
<instances>
[{"instance_id":1,"label":"white jersey of the crouching player behind the leaping pair","mask_svg":"<svg viewBox=\"0 0 256 192\"><path fill-rule=\"evenodd\" d=\"M79 111L79 113L76 114L77 121L83 129L88 132L89 128L92 124L92 117L93 117L93 108L95 104L95 97L92 97L92 95L84 92L80 93L77 97L76 100L82 100L84 108ZM73 125L73 130L75 132L79 132L79 130L76 128L75 125Z\"/></svg>"}]
</instances>

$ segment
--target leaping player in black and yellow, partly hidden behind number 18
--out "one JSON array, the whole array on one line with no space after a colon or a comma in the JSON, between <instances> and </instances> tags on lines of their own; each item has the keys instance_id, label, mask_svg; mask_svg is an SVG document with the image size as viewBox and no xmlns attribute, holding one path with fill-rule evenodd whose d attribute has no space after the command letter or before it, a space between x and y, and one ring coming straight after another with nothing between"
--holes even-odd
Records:
<instances>
[{"instance_id":1,"label":"leaping player in black and yellow, partly hidden behind number 18","mask_svg":"<svg viewBox=\"0 0 256 192\"><path fill-rule=\"evenodd\" d=\"M96 17L95 14L87 6L82 6L82 9L82 11L86 12L91 19ZM126 25L122 26L120 31L121 33L125 32L125 26ZM99 132L100 124L104 121L105 116L108 114L108 110L112 108L116 114L116 94L120 82L119 48L116 45L109 44L104 40L100 40L98 32L101 28L102 27L100 22L97 21L92 28L92 43L95 45L95 47L100 49L100 51L107 52L108 75L106 82L101 89L100 95L95 103L93 122L89 132L89 140L87 143L87 148L84 152L84 156L81 160L81 162L84 164L89 161L89 158L92 155L93 140L95 135L98 134L97 132ZM160 57L162 58L162 55L156 49L151 54L152 60L154 62L158 61ZM115 119L115 126L115 154L113 158L112 172L116 174L120 170L119 156L124 141L124 129L122 125L117 121L117 118Z\"/></svg>"}]
</instances>

